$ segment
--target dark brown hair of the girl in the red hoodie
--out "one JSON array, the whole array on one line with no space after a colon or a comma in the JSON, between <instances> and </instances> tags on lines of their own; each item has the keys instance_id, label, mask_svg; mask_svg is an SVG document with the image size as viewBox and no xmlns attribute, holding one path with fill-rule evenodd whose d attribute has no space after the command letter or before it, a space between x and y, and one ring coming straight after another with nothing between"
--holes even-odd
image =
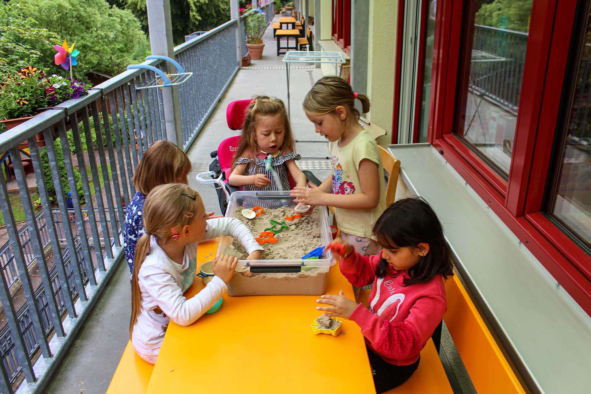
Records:
<instances>
[{"instance_id":1,"label":"dark brown hair of the girl in the red hoodie","mask_svg":"<svg viewBox=\"0 0 591 394\"><path fill-rule=\"evenodd\" d=\"M427 201L420 197L403 198L391 204L374 225L374 234L382 248L418 248L419 243L428 243L429 252L416 265L407 270L410 279L404 285L427 283L436 275L447 279L453 275L452 259L443 237L443 228L437 215ZM381 259L375 274L384 278L388 262ZM400 271L396 274L398 275Z\"/></svg>"}]
</instances>

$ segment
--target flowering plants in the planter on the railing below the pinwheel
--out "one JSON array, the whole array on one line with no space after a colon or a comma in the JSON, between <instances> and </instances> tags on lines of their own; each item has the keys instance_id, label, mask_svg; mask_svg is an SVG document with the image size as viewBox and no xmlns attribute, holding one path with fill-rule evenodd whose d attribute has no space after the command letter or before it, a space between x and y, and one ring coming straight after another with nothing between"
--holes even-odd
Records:
<instances>
[{"instance_id":1,"label":"flowering plants in the planter on the railing below the pinwheel","mask_svg":"<svg viewBox=\"0 0 591 394\"><path fill-rule=\"evenodd\" d=\"M69 77L56 74L47 77L43 70L25 67L0 83L0 123L11 129L48 108L86 95L90 87ZM43 133L38 133L40 146L45 145L44 141ZM28 147L26 141L22 145Z\"/></svg>"}]
</instances>

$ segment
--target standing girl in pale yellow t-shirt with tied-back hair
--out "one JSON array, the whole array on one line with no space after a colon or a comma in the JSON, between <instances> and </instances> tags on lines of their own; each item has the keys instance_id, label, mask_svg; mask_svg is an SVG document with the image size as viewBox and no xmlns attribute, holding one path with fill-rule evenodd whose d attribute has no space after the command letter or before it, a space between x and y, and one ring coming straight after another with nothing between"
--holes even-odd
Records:
<instances>
[{"instance_id":1,"label":"standing girl in pale yellow t-shirt with tied-back hair","mask_svg":"<svg viewBox=\"0 0 591 394\"><path fill-rule=\"evenodd\" d=\"M304 99L304 111L316 132L329 140L332 175L317 188L296 187L297 202L335 207L337 226L345 242L363 255L375 255L372 227L386 209L382 158L375 139L359 125L359 99L363 113L369 98L353 93L342 78L319 79Z\"/></svg>"}]
</instances>

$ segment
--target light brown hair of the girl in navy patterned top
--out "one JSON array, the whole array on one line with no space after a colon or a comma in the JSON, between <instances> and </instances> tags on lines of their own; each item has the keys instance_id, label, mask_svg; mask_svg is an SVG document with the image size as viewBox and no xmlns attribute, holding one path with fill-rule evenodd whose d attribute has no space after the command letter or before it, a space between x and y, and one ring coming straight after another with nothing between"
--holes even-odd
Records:
<instances>
[{"instance_id":1,"label":"light brown hair of the girl in navy patterned top","mask_svg":"<svg viewBox=\"0 0 591 394\"><path fill-rule=\"evenodd\" d=\"M178 181L188 184L190 171L191 162L187 155L172 142L161 139L144 153L132 182L139 193L147 196L158 185Z\"/></svg>"}]
</instances>

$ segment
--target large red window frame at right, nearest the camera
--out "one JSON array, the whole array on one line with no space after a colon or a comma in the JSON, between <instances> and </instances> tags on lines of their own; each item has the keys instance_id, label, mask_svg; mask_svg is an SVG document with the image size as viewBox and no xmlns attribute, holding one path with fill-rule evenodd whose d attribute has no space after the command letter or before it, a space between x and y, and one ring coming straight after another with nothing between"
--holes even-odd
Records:
<instances>
[{"instance_id":1,"label":"large red window frame at right, nearest the camera","mask_svg":"<svg viewBox=\"0 0 591 394\"><path fill-rule=\"evenodd\" d=\"M437 6L428 142L591 315L591 256L542 213L577 2L533 2L508 180L453 134L465 2Z\"/></svg>"}]
</instances>

